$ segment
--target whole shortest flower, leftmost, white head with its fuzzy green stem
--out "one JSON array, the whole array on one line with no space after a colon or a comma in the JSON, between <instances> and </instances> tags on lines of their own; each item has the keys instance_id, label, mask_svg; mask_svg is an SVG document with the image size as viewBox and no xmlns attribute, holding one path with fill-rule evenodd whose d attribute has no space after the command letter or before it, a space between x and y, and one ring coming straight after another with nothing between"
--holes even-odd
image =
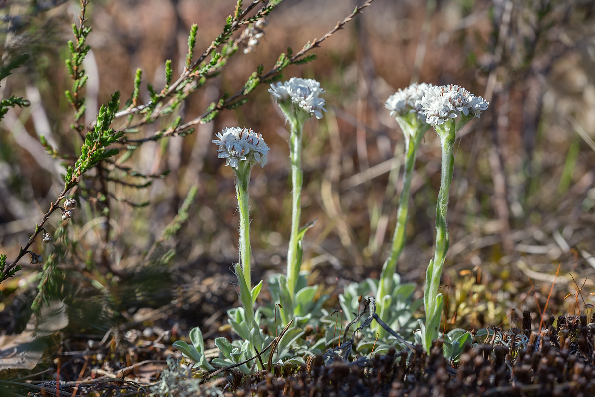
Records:
<instances>
[{"instance_id":1,"label":"whole shortest flower, leftmost, white head with its fuzzy green stem","mask_svg":"<svg viewBox=\"0 0 595 397\"><path fill-rule=\"evenodd\" d=\"M235 265L237 281L240 285L240 299L246 312L246 321L252 324L254 307L250 276L250 215L248 206L248 184L254 164L261 167L267 164L269 148L262 136L246 127L227 127L217 133L212 142L219 146L219 158L226 159L226 165L234 171L237 205L240 212L240 262Z\"/></svg>"}]
</instances>

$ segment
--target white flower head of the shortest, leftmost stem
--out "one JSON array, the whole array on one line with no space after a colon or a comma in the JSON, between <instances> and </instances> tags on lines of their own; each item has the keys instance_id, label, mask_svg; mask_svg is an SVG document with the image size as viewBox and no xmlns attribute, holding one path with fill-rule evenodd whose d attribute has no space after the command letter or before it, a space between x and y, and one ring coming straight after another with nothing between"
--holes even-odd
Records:
<instances>
[{"instance_id":1,"label":"white flower head of the shortest, leftmost stem","mask_svg":"<svg viewBox=\"0 0 595 397\"><path fill-rule=\"evenodd\" d=\"M246 127L226 127L223 132L217 133L217 139L212 142L219 145L217 152L219 158L225 159L225 165L237 170L239 161L253 161L260 163L261 167L267 164L268 146L257 134Z\"/></svg>"}]
</instances>

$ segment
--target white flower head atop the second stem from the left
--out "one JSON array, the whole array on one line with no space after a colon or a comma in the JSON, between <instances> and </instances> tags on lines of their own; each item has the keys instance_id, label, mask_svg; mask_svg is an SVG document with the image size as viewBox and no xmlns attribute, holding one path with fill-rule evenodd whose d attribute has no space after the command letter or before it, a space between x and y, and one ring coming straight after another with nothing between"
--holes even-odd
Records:
<instances>
[{"instance_id":1,"label":"white flower head atop the second stem from the left","mask_svg":"<svg viewBox=\"0 0 595 397\"><path fill-rule=\"evenodd\" d=\"M322 110L327 111L324 108L324 99L318 96L324 90L316 80L292 77L289 82L271 84L268 92L273 94L276 102L281 104L290 101L309 114L314 114L316 118L322 118Z\"/></svg>"}]
</instances>

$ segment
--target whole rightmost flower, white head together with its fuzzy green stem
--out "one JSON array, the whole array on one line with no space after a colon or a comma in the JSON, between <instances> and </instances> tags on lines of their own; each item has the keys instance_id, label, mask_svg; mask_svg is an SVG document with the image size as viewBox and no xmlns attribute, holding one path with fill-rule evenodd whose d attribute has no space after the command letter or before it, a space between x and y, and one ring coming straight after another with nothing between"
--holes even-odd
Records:
<instances>
[{"instance_id":1,"label":"whole rightmost flower, white head together with its fuzzy green stem","mask_svg":"<svg viewBox=\"0 0 595 397\"><path fill-rule=\"evenodd\" d=\"M449 235L446 226L446 210L450 182L452 182L453 146L456 133L474 117L481 117L489 102L481 96L469 93L456 85L430 86L421 101L426 122L434 127L440 138L442 149L442 169L440 174L440 192L436 203L436 251L428 265L425 277L424 307L425 330L424 348L430 352L432 341L438 338L443 297L438 293L440 276L449 247Z\"/></svg>"}]
</instances>

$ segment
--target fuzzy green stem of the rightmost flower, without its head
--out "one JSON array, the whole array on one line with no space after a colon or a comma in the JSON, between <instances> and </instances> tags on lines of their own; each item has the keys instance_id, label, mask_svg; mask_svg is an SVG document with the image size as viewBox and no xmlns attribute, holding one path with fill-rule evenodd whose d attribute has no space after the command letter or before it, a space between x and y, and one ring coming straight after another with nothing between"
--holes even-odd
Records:
<instances>
[{"instance_id":1,"label":"fuzzy green stem of the rightmost flower, without its head","mask_svg":"<svg viewBox=\"0 0 595 397\"><path fill-rule=\"evenodd\" d=\"M445 123L446 124L446 123ZM425 278L424 306L425 306L425 340L424 347L430 352L433 340L438 338L438 329L441 315L441 305L437 302L438 288L440 286L440 276L444 265L444 258L449 247L449 235L446 225L446 210L448 207L448 196L450 183L452 182L453 167L455 157L453 156L453 146L455 144L455 123L449 125L436 126L436 131L440 136L442 147L442 170L440 175L440 192L436 203L436 251L434 259L430 261ZM434 320L434 321L433 321Z\"/></svg>"}]
</instances>

